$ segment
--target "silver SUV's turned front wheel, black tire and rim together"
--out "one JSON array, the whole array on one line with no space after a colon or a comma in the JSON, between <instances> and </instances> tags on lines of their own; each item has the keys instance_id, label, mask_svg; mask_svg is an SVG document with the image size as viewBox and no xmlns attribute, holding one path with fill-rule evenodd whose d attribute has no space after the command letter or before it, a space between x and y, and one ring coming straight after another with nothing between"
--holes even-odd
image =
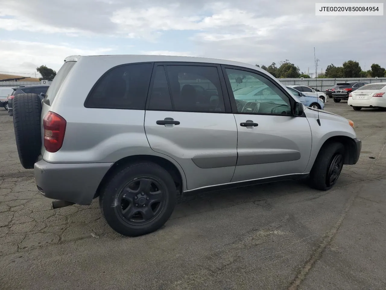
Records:
<instances>
[{"instance_id":1,"label":"silver SUV's turned front wheel, black tire and rim together","mask_svg":"<svg viewBox=\"0 0 386 290\"><path fill-rule=\"evenodd\" d=\"M332 163L336 161L335 158L341 158L341 163L339 163L339 166L336 168L336 178L332 180L330 179L330 177L332 177L330 170ZM328 190L332 188L342 171L343 162L344 146L342 143L333 142L323 145L310 172L310 186L318 190Z\"/></svg>"}]
</instances>

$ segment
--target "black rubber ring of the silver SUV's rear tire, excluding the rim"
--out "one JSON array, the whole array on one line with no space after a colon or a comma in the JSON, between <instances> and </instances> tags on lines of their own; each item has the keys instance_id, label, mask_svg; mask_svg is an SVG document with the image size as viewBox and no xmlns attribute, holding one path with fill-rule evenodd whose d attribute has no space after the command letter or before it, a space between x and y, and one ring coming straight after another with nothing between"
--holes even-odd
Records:
<instances>
[{"instance_id":1,"label":"black rubber ring of the silver SUV's rear tire, excluding the rim","mask_svg":"<svg viewBox=\"0 0 386 290\"><path fill-rule=\"evenodd\" d=\"M106 212L105 207L108 206L109 209L113 210L113 207L110 203L107 204L106 198L108 194L114 194L117 191L118 184L120 178L124 177L126 174L138 174L141 172L156 172L156 174L152 173L152 175L163 179L164 183L168 186L168 203L165 205L163 213L159 215L159 218L148 227L143 226L124 226L121 223L117 222L117 217L112 212ZM160 227L166 223L171 214L173 213L174 206L176 205L177 200L177 190L175 188L175 184L173 178L169 174L166 169L162 166L155 164L153 162L135 162L131 164L126 164L115 169L114 174L110 178L110 180L105 183L103 188L100 191L99 196L99 205L102 211L102 215L107 221L107 223L112 227L113 230L118 232L119 234L129 236L129 237L137 237L140 235L149 234L151 232L156 231Z\"/></svg>"}]
</instances>

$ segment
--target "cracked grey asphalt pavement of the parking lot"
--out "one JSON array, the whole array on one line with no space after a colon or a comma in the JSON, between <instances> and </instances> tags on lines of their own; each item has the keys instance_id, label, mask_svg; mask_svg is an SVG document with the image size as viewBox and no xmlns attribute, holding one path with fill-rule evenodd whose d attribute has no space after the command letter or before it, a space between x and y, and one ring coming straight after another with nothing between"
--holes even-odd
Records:
<instances>
[{"instance_id":1,"label":"cracked grey asphalt pavement of the parking lot","mask_svg":"<svg viewBox=\"0 0 386 290\"><path fill-rule=\"evenodd\" d=\"M0 285L33 289L385 289L386 112L352 119L356 165L321 192L281 182L185 196L166 226L122 237L91 206L51 209L0 110Z\"/></svg>"}]
</instances>

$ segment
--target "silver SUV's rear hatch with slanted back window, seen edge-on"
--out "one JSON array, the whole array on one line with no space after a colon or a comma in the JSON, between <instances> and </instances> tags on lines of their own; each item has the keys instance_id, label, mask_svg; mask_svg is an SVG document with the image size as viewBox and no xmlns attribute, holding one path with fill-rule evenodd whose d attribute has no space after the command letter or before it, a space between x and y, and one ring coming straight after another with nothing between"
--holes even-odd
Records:
<instances>
[{"instance_id":1,"label":"silver SUV's rear hatch with slanted back window, seen edge-on","mask_svg":"<svg viewBox=\"0 0 386 290\"><path fill-rule=\"evenodd\" d=\"M42 100L42 114L41 114L41 135L42 135L42 148L41 148L41 155L44 155L44 152L46 152L46 148L44 148L43 144L43 138L44 138L44 128L43 128L43 119L44 116L50 111L51 105L54 102L54 99L56 97L56 94L58 94L58 91L63 84L64 80L66 79L68 73L71 71L73 66L75 65L76 60L66 61L54 79L52 80L52 83L50 84L46 96L44 96L44 99Z\"/></svg>"}]
</instances>

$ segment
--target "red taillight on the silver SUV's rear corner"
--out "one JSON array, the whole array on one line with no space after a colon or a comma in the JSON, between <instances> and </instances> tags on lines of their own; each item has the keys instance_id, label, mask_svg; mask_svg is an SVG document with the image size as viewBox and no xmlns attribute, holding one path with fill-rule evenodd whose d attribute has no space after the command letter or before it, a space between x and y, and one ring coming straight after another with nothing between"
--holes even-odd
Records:
<instances>
[{"instance_id":1,"label":"red taillight on the silver SUV's rear corner","mask_svg":"<svg viewBox=\"0 0 386 290\"><path fill-rule=\"evenodd\" d=\"M66 120L49 111L43 119L44 147L48 152L57 152L63 145Z\"/></svg>"}]
</instances>

